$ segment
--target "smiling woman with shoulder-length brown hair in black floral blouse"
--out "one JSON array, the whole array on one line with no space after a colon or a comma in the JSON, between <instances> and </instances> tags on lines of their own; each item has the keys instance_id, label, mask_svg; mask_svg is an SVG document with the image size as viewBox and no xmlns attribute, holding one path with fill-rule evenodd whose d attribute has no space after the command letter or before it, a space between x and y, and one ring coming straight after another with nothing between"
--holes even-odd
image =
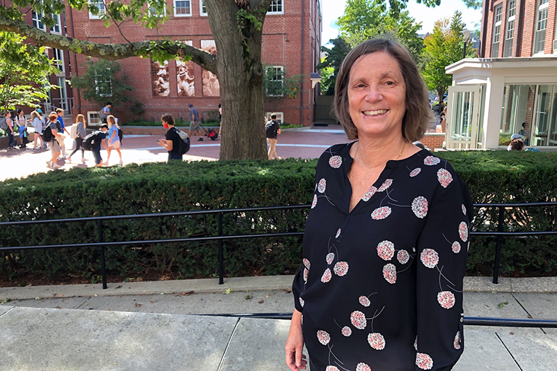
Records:
<instances>
[{"instance_id":1,"label":"smiling woman with shoulder-length brown hair in black floral blouse","mask_svg":"<svg viewBox=\"0 0 557 371\"><path fill-rule=\"evenodd\" d=\"M429 123L409 52L363 42L336 80L352 143L317 164L285 345L290 370L450 370L463 350L472 203L444 161L411 144Z\"/></svg>"}]
</instances>

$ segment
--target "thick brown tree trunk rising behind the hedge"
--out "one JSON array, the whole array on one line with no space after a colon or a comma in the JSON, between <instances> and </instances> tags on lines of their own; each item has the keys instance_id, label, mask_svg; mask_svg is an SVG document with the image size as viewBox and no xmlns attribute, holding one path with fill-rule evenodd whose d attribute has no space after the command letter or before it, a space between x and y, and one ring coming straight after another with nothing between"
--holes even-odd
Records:
<instances>
[{"instance_id":1,"label":"thick brown tree trunk rising behind the hedge","mask_svg":"<svg viewBox=\"0 0 557 371\"><path fill-rule=\"evenodd\" d=\"M269 3L270 0L251 1L250 14L258 21L244 18L243 23L238 23L242 6L235 1L205 1L217 47L217 77L221 86L220 159L267 159L261 41Z\"/></svg>"}]
</instances>

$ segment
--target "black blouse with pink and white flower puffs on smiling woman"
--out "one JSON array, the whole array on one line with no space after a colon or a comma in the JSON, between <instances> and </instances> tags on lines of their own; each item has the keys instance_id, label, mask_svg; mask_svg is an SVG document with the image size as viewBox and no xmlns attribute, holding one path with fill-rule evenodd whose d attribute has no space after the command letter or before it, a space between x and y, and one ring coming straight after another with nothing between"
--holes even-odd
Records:
<instances>
[{"instance_id":1,"label":"black blouse with pink and white flower puffs on smiling woman","mask_svg":"<svg viewBox=\"0 0 557 371\"><path fill-rule=\"evenodd\" d=\"M352 143L317 164L292 291L311 371L450 370L473 205L444 159L388 161L352 212Z\"/></svg>"}]
</instances>

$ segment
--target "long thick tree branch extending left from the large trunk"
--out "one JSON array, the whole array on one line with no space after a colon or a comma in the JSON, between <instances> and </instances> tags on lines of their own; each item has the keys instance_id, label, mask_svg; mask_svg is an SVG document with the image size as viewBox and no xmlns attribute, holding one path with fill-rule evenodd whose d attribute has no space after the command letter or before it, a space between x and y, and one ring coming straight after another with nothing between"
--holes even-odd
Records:
<instances>
[{"instance_id":1,"label":"long thick tree branch extending left from the large trunk","mask_svg":"<svg viewBox=\"0 0 557 371\"><path fill-rule=\"evenodd\" d=\"M170 54L171 56L191 56L191 61L207 71L219 75L217 56L205 50L191 47L183 42L171 40L139 41L127 44L102 44L68 38L68 36L47 33L36 29L17 19L10 19L0 14L0 30L24 35L36 42L38 46L69 50L95 58L116 61L130 56L150 56L152 54Z\"/></svg>"}]
</instances>

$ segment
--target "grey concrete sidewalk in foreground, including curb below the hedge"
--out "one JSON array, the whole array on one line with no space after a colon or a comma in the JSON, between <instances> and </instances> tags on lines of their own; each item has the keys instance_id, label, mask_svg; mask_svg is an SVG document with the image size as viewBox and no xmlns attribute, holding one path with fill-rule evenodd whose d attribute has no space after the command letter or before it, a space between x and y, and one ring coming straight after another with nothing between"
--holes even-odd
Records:
<instances>
[{"instance_id":1,"label":"grey concrete sidewalk in foreground, including curb below the hedge","mask_svg":"<svg viewBox=\"0 0 557 371\"><path fill-rule=\"evenodd\" d=\"M288 370L292 276L0 288L0 370ZM557 319L557 278L466 278L464 315ZM9 301L8 301L9 300ZM554 370L557 329L467 326L455 371Z\"/></svg>"}]
</instances>

